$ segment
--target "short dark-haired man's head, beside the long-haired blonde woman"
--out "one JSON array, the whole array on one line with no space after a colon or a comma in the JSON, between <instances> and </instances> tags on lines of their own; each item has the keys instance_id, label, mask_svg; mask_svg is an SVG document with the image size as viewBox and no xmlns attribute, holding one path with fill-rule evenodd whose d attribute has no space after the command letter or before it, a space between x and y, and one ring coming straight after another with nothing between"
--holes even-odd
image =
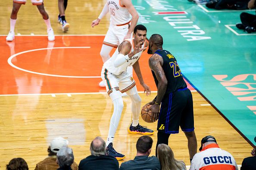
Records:
<instances>
[{"instance_id":1,"label":"short dark-haired man's head, beside the long-haired blonde woman","mask_svg":"<svg viewBox=\"0 0 256 170\"><path fill-rule=\"evenodd\" d=\"M149 136L142 136L138 139L136 144L137 153L143 155L150 155L153 139Z\"/></svg>"}]
</instances>

